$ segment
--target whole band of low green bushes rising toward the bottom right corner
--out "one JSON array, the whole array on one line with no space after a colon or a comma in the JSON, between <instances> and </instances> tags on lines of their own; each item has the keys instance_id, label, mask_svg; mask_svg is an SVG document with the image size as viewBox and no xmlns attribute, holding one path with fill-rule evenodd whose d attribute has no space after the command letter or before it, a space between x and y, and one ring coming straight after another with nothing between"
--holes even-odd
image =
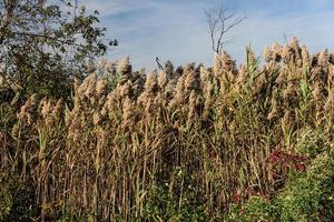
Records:
<instances>
[{"instance_id":1,"label":"whole band of low green bushes rising toward the bottom right corner","mask_svg":"<svg viewBox=\"0 0 334 222\"><path fill-rule=\"evenodd\" d=\"M271 201L253 196L233 204L227 221L333 221L334 158L316 157L306 172L291 172L289 182Z\"/></svg>"}]
</instances>

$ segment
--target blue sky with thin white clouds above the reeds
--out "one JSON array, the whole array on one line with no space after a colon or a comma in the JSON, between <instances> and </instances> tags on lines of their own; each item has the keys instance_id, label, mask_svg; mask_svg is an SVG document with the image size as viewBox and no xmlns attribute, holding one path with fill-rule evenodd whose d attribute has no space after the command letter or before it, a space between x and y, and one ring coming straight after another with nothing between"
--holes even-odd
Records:
<instances>
[{"instance_id":1,"label":"blue sky with thin white clouds above the reeds","mask_svg":"<svg viewBox=\"0 0 334 222\"><path fill-rule=\"evenodd\" d=\"M107 36L119 46L111 60L129 56L135 70L155 69L155 58L175 65L213 63L213 51L204 9L225 6L246 20L229 36L226 47L243 62L245 47L257 56L265 46L284 43L295 36L312 52L334 49L334 0L79 0L88 10L100 12Z\"/></svg>"}]
</instances>

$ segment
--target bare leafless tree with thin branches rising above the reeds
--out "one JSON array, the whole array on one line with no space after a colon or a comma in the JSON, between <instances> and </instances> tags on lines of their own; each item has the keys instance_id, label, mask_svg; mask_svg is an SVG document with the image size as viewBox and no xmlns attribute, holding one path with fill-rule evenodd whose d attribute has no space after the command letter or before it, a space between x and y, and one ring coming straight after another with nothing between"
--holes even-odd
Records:
<instances>
[{"instance_id":1,"label":"bare leafless tree with thin branches rising above the reeds","mask_svg":"<svg viewBox=\"0 0 334 222\"><path fill-rule=\"evenodd\" d=\"M237 24L242 23L246 17L236 17L230 10L220 7L215 7L205 10L209 34L212 39L212 47L216 53L222 53L226 43L232 39L225 39L226 33Z\"/></svg>"}]
</instances>

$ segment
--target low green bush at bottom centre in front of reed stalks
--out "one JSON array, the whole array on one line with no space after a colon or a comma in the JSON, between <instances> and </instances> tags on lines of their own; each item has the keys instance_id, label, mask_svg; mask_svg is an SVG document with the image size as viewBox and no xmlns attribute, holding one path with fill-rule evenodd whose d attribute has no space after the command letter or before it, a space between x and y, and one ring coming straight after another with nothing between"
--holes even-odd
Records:
<instances>
[{"instance_id":1,"label":"low green bush at bottom centre in front of reed stalks","mask_svg":"<svg viewBox=\"0 0 334 222\"><path fill-rule=\"evenodd\" d=\"M200 191L194 186L196 175L176 168L173 183L160 183L150 189L145 205L145 219L154 221L206 221L205 204L198 202Z\"/></svg>"}]
</instances>

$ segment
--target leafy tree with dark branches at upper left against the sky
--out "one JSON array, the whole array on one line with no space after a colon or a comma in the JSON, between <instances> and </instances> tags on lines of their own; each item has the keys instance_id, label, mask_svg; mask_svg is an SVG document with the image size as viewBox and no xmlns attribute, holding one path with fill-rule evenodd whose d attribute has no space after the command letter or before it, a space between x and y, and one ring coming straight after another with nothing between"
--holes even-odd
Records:
<instances>
[{"instance_id":1,"label":"leafy tree with dark branches at upper left against the sky","mask_svg":"<svg viewBox=\"0 0 334 222\"><path fill-rule=\"evenodd\" d=\"M104 39L98 14L87 13L76 0L0 0L2 89L24 97L68 97L73 78L85 77L88 60L117 46Z\"/></svg>"}]
</instances>

